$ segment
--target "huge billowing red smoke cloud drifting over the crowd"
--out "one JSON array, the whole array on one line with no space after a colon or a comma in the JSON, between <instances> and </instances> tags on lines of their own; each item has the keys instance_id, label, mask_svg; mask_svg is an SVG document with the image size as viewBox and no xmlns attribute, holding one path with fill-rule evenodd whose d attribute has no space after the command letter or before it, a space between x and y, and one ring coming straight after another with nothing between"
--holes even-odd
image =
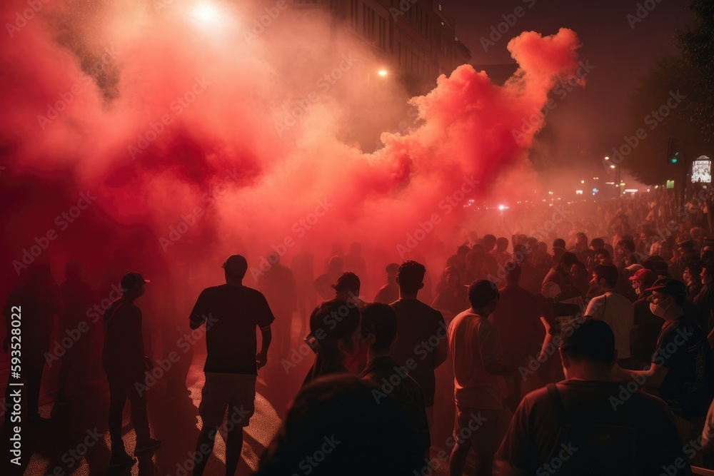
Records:
<instances>
[{"instance_id":1,"label":"huge billowing red smoke cloud drifting over the crowd","mask_svg":"<svg viewBox=\"0 0 714 476\"><path fill-rule=\"evenodd\" d=\"M286 263L311 250L321 272L334 243L355 240L375 276L409 256L440 266L471 227L469 199L505 186L516 198L534 181L523 118L578 67L573 31L523 33L508 44L521 69L505 86L460 66L411 99L418 118L403 133L363 153L355 135L378 116L398 123L406 105L394 83L376 91L376 62L357 46L326 46L323 19L281 9L251 36L262 10L250 6L204 18L188 1L86 11L58 0L20 27L27 4L8 3L0 213L11 281L28 260L59 279L84 257L96 277L148 268L200 288L231 253L257 268L271 249ZM61 229L56 216L88 192L94 203ZM48 231L57 237L44 246Z\"/></svg>"}]
</instances>

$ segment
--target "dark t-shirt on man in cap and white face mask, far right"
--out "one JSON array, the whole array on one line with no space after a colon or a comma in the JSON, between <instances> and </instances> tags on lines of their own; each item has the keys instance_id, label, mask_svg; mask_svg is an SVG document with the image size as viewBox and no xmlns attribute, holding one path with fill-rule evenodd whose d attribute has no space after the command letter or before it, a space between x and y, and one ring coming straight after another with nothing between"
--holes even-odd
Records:
<instances>
[{"instance_id":1,"label":"dark t-shirt on man in cap and white face mask, far right","mask_svg":"<svg viewBox=\"0 0 714 476\"><path fill-rule=\"evenodd\" d=\"M685 418L705 415L714 368L707 338L692 318L683 315L662 330L652 362L668 369L657 392L673 412Z\"/></svg>"}]
</instances>

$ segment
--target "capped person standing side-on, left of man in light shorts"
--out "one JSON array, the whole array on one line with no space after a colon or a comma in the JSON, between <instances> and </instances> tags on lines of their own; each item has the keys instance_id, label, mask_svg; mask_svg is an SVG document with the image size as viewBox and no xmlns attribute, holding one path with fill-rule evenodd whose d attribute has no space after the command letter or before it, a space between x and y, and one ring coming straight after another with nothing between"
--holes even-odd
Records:
<instances>
[{"instance_id":1,"label":"capped person standing side-on, left of man in light shorts","mask_svg":"<svg viewBox=\"0 0 714 476\"><path fill-rule=\"evenodd\" d=\"M161 446L151 437L149 417L146 415L146 392L137 383L144 383L144 372L154 367L144 353L141 332L141 309L134 301L146 293L149 280L139 273L128 273L121 278L121 298L109 305L104 313L104 350L101 365L109 381L109 438L111 459L109 467L133 465L136 459L126 454L121 439L121 416L129 399L131 423L136 431L134 455Z\"/></svg>"}]
</instances>

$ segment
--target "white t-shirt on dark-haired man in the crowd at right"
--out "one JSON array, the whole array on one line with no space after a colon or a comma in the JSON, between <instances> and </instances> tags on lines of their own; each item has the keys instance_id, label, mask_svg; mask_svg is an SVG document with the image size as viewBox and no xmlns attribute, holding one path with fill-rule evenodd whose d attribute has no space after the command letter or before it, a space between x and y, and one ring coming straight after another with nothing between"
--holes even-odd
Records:
<instances>
[{"instance_id":1,"label":"white t-shirt on dark-haired man in the crowd at right","mask_svg":"<svg viewBox=\"0 0 714 476\"><path fill-rule=\"evenodd\" d=\"M635 325L635 310L628 298L608 291L590 300L585 315L608 323L615 334L618 359L630 357L630 330Z\"/></svg>"}]
</instances>

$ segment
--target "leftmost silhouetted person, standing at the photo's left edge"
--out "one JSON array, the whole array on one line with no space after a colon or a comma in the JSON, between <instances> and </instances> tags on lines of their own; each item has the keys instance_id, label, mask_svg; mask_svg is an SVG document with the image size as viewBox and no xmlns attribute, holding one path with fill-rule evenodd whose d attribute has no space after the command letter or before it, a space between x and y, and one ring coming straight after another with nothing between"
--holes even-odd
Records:
<instances>
[{"instance_id":1,"label":"leftmost silhouetted person, standing at the photo's left edge","mask_svg":"<svg viewBox=\"0 0 714 476\"><path fill-rule=\"evenodd\" d=\"M41 425L49 420L38 412L45 354L49 351L53 316L62 312L63 304L59 286L48 265L33 265L27 272L28 282L10 293L3 310L7 326L3 350L10 353L11 358L21 358L20 375L16 377L11 373L8 384L26 383L28 420L31 425ZM14 315L19 317L13 318ZM19 320L19 335L12 333L13 320ZM7 385L5 390L6 425L10 422L8 409L14 389L16 387Z\"/></svg>"}]
</instances>

